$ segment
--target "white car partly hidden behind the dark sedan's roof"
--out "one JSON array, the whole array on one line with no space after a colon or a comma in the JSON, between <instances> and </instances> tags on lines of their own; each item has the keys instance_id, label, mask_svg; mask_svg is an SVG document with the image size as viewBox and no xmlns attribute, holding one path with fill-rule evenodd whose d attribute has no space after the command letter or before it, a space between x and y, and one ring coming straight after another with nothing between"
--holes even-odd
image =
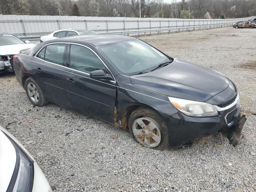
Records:
<instances>
[{"instance_id":1,"label":"white car partly hidden behind the dark sedan's roof","mask_svg":"<svg viewBox=\"0 0 256 192\"><path fill-rule=\"evenodd\" d=\"M40 38L40 42L57 39L61 37L68 37L68 36L75 36L75 35L93 35L93 34L97 34L97 33L91 30L62 29L62 30L54 31L49 35L42 36Z\"/></svg>"}]
</instances>

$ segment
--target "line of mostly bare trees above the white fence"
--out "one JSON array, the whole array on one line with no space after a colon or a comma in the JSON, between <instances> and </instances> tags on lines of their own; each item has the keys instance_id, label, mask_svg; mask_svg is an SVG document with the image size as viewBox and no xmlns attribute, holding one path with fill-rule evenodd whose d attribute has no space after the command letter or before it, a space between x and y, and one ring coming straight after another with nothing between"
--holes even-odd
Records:
<instances>
[{"instance_id":1,"label":"line of mostly bare trees above the white fence","mask_svg":"<svg viewBox=\"0 0 256 192\"><path fill-rule=\"evenodd\" d=\"M141 11L141 17L154 18L224 19L256 16L256 0L169 1L0 0L0 14L139 17Z\"/></svg>"}]
</instances>

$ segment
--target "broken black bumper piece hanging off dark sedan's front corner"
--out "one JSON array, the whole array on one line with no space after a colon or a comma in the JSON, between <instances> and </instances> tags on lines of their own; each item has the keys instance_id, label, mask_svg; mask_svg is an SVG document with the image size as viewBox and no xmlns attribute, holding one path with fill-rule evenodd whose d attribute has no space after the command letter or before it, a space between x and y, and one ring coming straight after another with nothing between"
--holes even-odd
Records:
<instances>
[{"instance_id":1,"label":"broken black bumper piece hanging off dark sedan's front corner","mask_svg":"<svg viewBox=\"0 0 256 192\"><path fill-rule=\"evenodd\" d=\"M246 122L245 115L240 116L236 125L234 125L230 131L227 133L229 139L229 144L232 144L234 147L238 146L242 142L241 132Z\"/></svg>"}]
</instances>

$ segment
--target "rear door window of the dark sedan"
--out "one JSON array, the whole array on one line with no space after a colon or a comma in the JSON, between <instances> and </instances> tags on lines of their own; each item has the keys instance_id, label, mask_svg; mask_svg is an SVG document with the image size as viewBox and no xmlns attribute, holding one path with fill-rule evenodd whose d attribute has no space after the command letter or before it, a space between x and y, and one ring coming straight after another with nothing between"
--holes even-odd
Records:
<instances>
[{"instance_id":1,"label":"rear door window of the dark sedan","mask_svg":"<svg viewBox=\"0 0 256 192\"><path fill-rule=\"evenodd\" d=\"M43 48L37 57L48 62L63 65L65 44L51 44Z\"/></svg>"}]
</instances>

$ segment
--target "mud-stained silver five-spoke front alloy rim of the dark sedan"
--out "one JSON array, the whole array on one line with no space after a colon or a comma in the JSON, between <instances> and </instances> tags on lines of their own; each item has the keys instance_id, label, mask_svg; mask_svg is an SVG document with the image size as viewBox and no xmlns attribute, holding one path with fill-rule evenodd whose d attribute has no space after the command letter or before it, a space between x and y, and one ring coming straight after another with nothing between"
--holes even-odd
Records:
<instances>
[{"instance_id":1,"label":"mud-stained silver five-spoke front alloy rim of the dark sedan","mask_svg":"<svg viewBox=\"0 0 256 192\"><path fill-rule=\"evenodd\" d=\"M157 123L148 117L138 118L132 125L135 138L146 147L156 147L161 142L161 133Z\"/></svg>"}]
</instances>

